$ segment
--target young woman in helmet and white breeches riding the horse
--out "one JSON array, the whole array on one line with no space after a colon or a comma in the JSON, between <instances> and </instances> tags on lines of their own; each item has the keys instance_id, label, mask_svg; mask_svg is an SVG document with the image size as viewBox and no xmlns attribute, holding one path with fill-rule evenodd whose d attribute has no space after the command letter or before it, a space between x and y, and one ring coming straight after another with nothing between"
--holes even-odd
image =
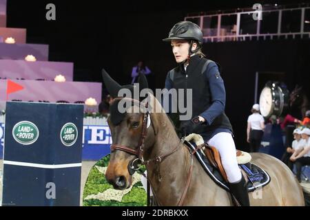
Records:
<instances>
[{"instance_id":1,"label":"young woman in helmet and white breeches riding the horse","mask_svg":"<svg viewBox=\"0 0 310 220\"><path fill-rule=\"evenodd\" d=\"M227 174L229 187L241 206L249 206L245 178L236 158L232 126L225 114L225 87L218 66L201 51L203 32L190 21L176 23L167 39L178 66L165 82L166 89L192 89L192 120L181 122L183 135L199 133L206 143L217 148ZM205 71L203 68L205 67Z\"/></svg>"}]
</instances>

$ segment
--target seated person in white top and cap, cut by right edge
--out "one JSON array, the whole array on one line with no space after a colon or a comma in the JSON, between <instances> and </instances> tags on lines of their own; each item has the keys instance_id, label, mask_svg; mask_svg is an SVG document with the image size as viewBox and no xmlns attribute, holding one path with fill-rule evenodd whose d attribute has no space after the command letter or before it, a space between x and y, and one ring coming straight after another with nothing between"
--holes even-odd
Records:
<instances>
[{"instance_id":1,"label":"seated person in white top and cap, cut by right edge","mask_svg":"<svg viewBox=\"0 0 310 220\"><path fill-rule=\"evenodd\" d=\"M301 182L301 169L302 166L310 165L310 129L302 129L302 139L305 140L303 147L298 148L296 153L291 155L291 161L296 164L296 177Z\"/></svg>"}]
</instances>

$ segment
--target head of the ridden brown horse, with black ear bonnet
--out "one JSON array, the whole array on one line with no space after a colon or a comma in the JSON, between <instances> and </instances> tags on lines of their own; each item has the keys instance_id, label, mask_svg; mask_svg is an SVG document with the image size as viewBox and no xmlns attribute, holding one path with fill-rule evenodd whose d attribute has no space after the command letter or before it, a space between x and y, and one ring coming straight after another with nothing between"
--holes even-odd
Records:
<instances>
[{"instance_id":1,"label":"head of the ridden brown horse, with black ear bonnet","mask_svg":"<svg viewBox=\"0 0 310 220\"><path fill-rule=\"evenodd\" d=\"M154 144L155 131L150 115L145 111L145 104L149 99L120 98L118 91L124 88L132 91L134 87L118 85L105 71L103 71L103 80L107 91L114 98L110 107L110 117L107 120L113 143L105 177L114 188L123 190L132 184L133 162L141 158L141 154ZM139 87L140 90L147 88L147 80L143 74L139 77ZM130 101L129 107L125 112L120 111L121 102L126 99Z\"/></svg>"}]
</instances>

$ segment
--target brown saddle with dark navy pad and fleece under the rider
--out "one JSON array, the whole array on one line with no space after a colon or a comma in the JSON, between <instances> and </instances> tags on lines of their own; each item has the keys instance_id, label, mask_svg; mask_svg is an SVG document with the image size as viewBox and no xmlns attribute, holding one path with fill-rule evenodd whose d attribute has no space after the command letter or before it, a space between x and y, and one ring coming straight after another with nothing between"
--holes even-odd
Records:
<instances>
[{"instance_id":1,"label":"brown saddle with dark navy pad and fleece under the rider","mask_svg":"<svg viewBox=\"0 0 310 220\"><path fill-rule=\"evenodd\" d=\"M185 137L185 141L189 151L193 155L196 155L196 158L211 179L225 190L230 191L227 175L218 150L214 146L205 144L203 137L198 134L192 133L188 135ZM236 157L240 171L247 181L249 192L256 190L258 187L266 186L269 183L270 177L268 173L251 163L251 155L249 153L236 151Z\"/></svg>"}]
</instances>

